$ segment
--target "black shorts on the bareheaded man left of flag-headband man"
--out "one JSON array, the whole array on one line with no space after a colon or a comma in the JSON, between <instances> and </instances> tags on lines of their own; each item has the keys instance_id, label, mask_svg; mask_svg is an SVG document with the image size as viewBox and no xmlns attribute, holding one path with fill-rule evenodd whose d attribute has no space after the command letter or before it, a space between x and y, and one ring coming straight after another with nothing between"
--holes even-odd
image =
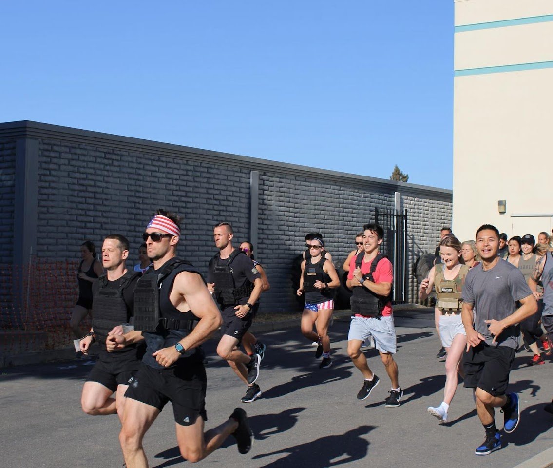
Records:
<instances>
[{"instance_id":1,"label":"black shorts on the bareheaded man left of flag-headband man","mask_svg":"<svg viewBox=\"0 0 553 468\"><path fill-rule=\"evenodd\" d=\"M112 392L117 391L118 385L128 385L129 379L138 372L144 346L140 351L137 354L136 349L113 353L102 350L86 381L101 383Z\"/></svg>"}]
</instances>

